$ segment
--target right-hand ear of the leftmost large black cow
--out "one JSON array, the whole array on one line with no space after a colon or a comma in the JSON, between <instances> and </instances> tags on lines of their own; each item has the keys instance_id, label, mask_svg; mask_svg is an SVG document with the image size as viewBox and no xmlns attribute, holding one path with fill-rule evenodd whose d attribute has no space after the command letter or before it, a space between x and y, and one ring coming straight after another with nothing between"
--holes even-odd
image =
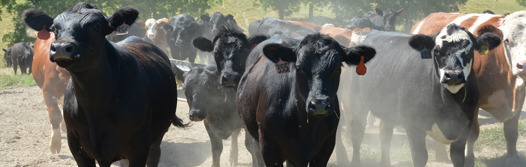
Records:
<instances>
[{"instance_id":1,"label":"right-hand ear of the leftmost large black cow","mask_svg":"<svg viewBox=\"0 0 526 167\"><path fill-rule=\"evenodd\" d=\"M126 6L120 9L117 9L111 16L108 18L108 32L107 34L112 33L120 25L127 24L131 25L135 23L135 19L139 17L139 11L131 6ZM106 35L107 35L106 34Z\"/></svg>"}]
</instances>

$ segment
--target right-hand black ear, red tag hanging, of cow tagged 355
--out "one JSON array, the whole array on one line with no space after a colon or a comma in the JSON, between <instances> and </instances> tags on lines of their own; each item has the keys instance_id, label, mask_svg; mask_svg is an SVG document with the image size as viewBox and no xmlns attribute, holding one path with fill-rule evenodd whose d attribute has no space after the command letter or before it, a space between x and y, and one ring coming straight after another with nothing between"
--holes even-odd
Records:
<instances>
[{"instance_id":1,"label":"right-hand black ear, red tag hanging, of cow tagged 355","mask_svg":"<svg viewBox=\"0 0 526 167\"><path fill-rule=\"evenodd\" d=\"M363 56L363 63L367 63L376 55L376 50L368 46L354 46L343 49L345 55L342 55L341 61L346 62L348 65L357 66L360 64L361 57Z\"/></svg>"}]
</instances>

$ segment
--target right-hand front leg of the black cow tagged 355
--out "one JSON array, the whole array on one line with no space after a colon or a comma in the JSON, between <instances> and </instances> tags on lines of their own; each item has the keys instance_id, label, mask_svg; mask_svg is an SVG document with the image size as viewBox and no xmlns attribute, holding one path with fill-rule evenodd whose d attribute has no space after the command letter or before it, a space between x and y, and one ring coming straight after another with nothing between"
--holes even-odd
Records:
<instances>
[{"instance_id":1,"label":"right-hand front leg of the black cow tagged 355","mask_svg":"<svg viewBox=\"0 0 526 167\"><path fill-rule=\"evenodd\" d=\"M332 150L334 150L334 147L336 144L336 140L337 140L336 133L337 132L335 131L329 136L329 138L327 138L327 140L325 140L320 152L318 152L318 155L314 156L314 158L310 160L309 166L322 166L322 167L327 166L330 155L332 154ZM343 166L343 165L338 164L338 166Z\"/></svg>"}]
</instances>

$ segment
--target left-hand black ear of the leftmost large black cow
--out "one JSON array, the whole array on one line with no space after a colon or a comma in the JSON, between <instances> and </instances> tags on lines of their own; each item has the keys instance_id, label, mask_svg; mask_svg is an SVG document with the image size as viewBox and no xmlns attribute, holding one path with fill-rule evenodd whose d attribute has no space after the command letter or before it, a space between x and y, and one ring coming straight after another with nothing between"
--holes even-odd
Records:
<instances>
[{"instance_id":1,"label":"left-hand black ear of the leftmost large black cow","mask_svg":"<svg viewBox=\"0 0 526 167\"><path fill-rule=\"evenodd\" d=\"M31 28L37 32L42 30L42 27L46 26L47 31L51 31L53 25L53 17L38 9L27 9L22 13L22 20Z\"/></svg>"}]
</instances>

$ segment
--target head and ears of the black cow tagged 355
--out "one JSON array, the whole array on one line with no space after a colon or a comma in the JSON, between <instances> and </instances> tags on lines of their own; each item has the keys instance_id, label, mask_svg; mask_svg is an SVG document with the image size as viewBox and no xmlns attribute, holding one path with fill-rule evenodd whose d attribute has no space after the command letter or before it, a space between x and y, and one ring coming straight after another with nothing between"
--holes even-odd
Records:
<instances>
[{"instance_id":1,"label":"head and ears of the black cow tagged 355","mask_svg":"<svg viewBox=\"0 0 526 167\"><path fill-rule=\"evenodd\" d=\"M296 48L267 44L263 53L273 62L294 62L290 68L296 76L299 107L315 117L334 113L342 61L358 65L362 55L367 62L376 54L365 46L343 49L336 40L319 33L306 36Z\"/></svg>"}]
</instances>

